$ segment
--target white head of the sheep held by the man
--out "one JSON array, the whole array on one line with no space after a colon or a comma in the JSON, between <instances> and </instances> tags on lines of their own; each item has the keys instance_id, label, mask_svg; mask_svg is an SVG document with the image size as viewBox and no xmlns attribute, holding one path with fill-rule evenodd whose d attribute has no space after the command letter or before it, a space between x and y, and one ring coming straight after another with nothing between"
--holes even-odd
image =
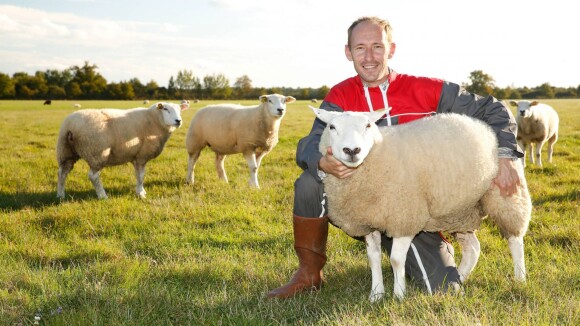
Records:
<instances>
[{"instance_id":1,"label":"white head of the sheep held by the man","mask_svg":"<svg viewBox=\"0 0 580 326\"><path fill-rule=\"evenodd\" d=\"M384 110L375 112L331 112L310 107L326 123L320 151L332 148L332 155L348 167L359 166L374 144L382 140L375 124Z\"/></svg>"}]
</instances>

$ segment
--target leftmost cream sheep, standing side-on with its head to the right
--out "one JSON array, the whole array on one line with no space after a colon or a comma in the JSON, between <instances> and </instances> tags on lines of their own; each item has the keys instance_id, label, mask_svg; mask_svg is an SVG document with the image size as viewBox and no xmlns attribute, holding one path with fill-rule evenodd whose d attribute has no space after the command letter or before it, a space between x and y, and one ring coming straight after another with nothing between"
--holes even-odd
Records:
<instances>
[{"instance_id":1,"label":"leftmost cream sheep, standing side-on with its head to the right","mask_svg":"<svg viewBox=\"0 0 580 326\"><path fill-rule=\"evenodd\" d=\"M187 108L187 104L157 103L150 108L71 113L62 123L56 145L57 196L64 198L66 177L76 161L83 159L100 199L107 198L99 178L101 169L127 162L135 167L137 195L144 198L145 165L161 154L171 133L181 126L181 111Z\"/></svg>"}]
</instances>

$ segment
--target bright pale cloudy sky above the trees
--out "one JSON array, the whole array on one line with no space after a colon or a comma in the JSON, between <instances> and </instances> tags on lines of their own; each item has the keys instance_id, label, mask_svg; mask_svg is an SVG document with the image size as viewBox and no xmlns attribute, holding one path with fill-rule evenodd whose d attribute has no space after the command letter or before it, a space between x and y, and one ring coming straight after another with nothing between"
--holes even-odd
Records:
<instances>
[{"instance_id":1,"label":"bright pale cloudy sky above the trees","mask_svg":"<svg viewBox=\"0 0 580 326\"><path fill-rule=\"evenodd\" d=\"M346 30L361 16L393 26L389 66L499 87L580 85L580 19L571 0L0 0L0 72L85 62L107 82L167 86L247 75L254 87L333 86L355 75Z\"/></svg>"}]
</instances>

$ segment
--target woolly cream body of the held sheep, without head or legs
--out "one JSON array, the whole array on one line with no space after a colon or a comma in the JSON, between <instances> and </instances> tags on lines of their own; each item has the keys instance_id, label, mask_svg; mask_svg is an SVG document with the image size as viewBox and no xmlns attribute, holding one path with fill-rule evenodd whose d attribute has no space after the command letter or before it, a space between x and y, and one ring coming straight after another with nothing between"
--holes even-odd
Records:
<instances>
[{"instance_id":1,"label":"woolly cream body of the held sheep, without head or legs","mask_svg":"<svg viewBox=\"0 0 580 326\"><path fill-rule=\"evenodd\" d=\"M330 216L353 236L437 229L474 212L497 174L496 137L472 118L440 114L382 132L356 173L325 179Z\"/></svg>"}]
</instances>

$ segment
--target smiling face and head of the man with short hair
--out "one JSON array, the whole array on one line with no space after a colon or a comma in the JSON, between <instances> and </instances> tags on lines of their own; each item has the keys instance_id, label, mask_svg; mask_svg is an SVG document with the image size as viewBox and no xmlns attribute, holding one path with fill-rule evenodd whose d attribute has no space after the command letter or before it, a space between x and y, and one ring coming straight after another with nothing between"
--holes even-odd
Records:
<instances>
[{"instance_id":1,"label":"smiling face and head of the man with short hair","mask_svg":"<svg viewBox=\"0 0 580 326\"><path fill-rule=\"evenodd\" d=\"M387 80L387 61L395 53L395 44L389 44L387 33L372 22L359 23L351 35L351 44L345 46L348 60L354 70L369 86L374 87Z\"/></svg>"}]
</instances>

